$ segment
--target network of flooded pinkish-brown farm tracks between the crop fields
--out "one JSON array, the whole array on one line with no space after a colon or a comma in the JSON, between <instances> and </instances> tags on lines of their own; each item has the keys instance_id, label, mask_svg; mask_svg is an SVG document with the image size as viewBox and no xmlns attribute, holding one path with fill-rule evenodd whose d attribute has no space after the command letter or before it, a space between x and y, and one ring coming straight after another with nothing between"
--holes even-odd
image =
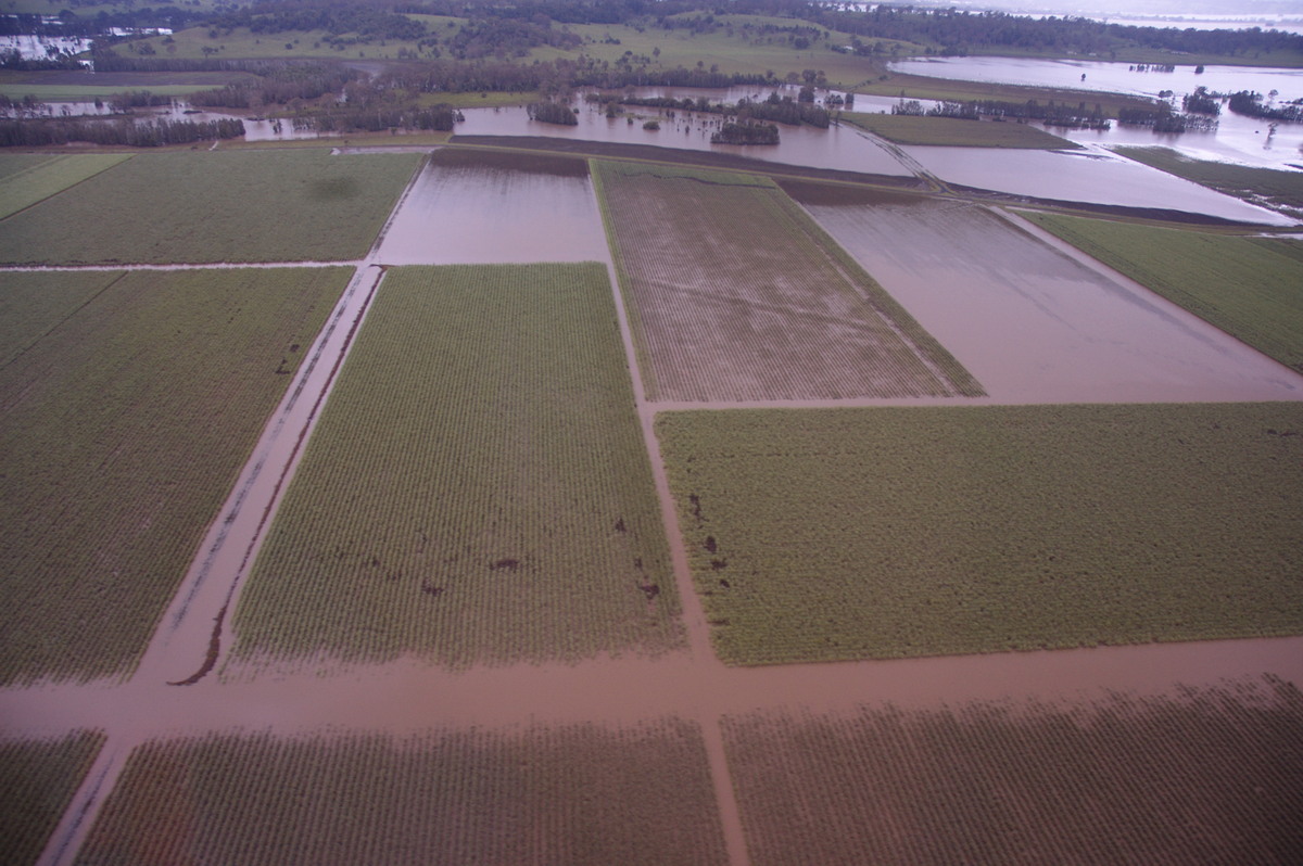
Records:
<instances>
[{"instance_id":1,"label":"network of flooded pinkish-brown farm tracks between the crop fields","mask_svg":"<svg viewBox=\"0 0 1303 866\"><path fill-rule=\"evenodd\" d=\"M391 221L401 203L403 198L391 212ZM1016 223L1020 228L1038 233L1038 229L1027 227L1022 220ZM688 652L655 660L598 659L575 665L519 664L480 667L465 672L400 660L377 667L339 668L331 676L321 676L315 667L305 663L297 673L250 678L235 676L228 681L201 676L185 688L169 685L181 682L186 673L212 669L220 660L220 651L229 646L229 621L224 613L237 598L263 530L275 513L280 494L294 471L335 374L343 365L352 337L383 277L383 264L375 260L375 250L383 237L382 230L366 259L349 262L0 268L16 272L302 268L340 264L357 268L326 329L313 346L309 361L268 422L231 500L220 512L223 520L215 522L210 538L205 540L192 573L134 676L125 681L0 690L0 737L43 737L74 728L98 728L108 734L95 764L38 861L42 866L69 863L76 858L78 846L112 790L126 757L134 746L151 738L268 727L276 733L293 737L326 728L344 733L407 733L434 725L513 727L526 719L614 724L665 716L692 719L701 725L706 742L730 862L743 866L749 859L723 747L721 719L724 715L770 708L843 712L865 703L887 702L900 707L939 707L966 701L1020 699L1028 695L1048 701L1076 701L1095 699L1106 690L1167 694L1174 690L1175 684L1216 684L1263 673L1273 673L1303 685L1303 637L891 662L726 667L711 649L710 629L693 587L676 509L653 430L658 412L982 405L994 401L972 397L649 401L644 393L627 307L620 297L610 257L606 264L616 296L637 415L671 547L689 637ZM275 454L271 453L272 449L276 449ZM259 492L254 492L255 486ZM223 560L220 568L216 563L219 555ZM232 563L237 564L235 573L229 570ZM212 624L216 625L216 632ZM150 708L149 718L142 718L142 707Z\"/></svg>"}]
</instances>

